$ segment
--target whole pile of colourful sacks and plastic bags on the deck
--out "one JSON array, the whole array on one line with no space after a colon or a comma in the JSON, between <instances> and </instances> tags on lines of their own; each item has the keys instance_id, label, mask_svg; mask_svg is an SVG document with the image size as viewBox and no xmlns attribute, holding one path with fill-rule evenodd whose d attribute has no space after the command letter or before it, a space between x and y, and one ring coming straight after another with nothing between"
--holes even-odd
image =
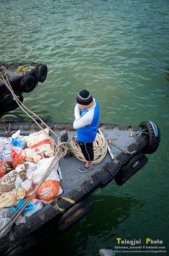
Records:
<instances>
[{"instance_id":1,"label":"whole pile of colourful sacks and plastic bags on the deck","mask_svg":"<svg viewBox=\"0 0 169 256\"><path fill-rule=\"evenodd\" d=\"M49 134L49 129L45 131ZM4 216L11 216L34 192L54 158L54 142L44 131L21 136L20 130L12 137L0 137L0 227ZM56 158L57 160L57 158ZM56 161L55 160L55 161ZM50 204L62 194L58 175L59 163L42 183L30 204L16 224L37 212L44 204ZM8 221L8 218L5 218Z\"/></svg>"}]
</instances>

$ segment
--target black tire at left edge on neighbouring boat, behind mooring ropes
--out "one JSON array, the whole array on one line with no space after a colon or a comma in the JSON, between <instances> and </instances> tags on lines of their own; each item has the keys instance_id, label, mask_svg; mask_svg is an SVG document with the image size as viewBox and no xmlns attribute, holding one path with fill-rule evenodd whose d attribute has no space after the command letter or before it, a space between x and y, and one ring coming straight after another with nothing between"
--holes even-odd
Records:
<instances>
[{"instance_id":1,"label":"black tire at left edge on neighbouring boat, behind mooring ropes","mask_svg":"<svg viewBox=\"0 0 169 256\"><path fill-rule=\"evenodd\" d=\"M23 102L22 94L18 91L14 91L14 93L16 94L16 96L19 96L19 100ZM17 105L17 102L13 100L13 96L10 92L4 93L0 99L1 99L1 104L3 105L4 112L12 111L19 107L19 105ZM8 104L8 105L6 106L5 104Z\"/></svg>"}]
</instances>

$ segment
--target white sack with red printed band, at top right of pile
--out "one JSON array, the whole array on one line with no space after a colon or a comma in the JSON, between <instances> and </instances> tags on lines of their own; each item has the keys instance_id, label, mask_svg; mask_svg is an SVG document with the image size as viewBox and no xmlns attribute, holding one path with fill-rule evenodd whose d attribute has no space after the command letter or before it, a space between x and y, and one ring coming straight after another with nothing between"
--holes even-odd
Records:
<instances>
[{"instance_id":1,"label":"white sack with red printed band, at top right of pile","mask_svg":"<svg viewBox=\"0 0 169 256\"><path fill-rule=\"evenodd\" d=\"M45 131L49 134L49 129ZM29 134L26 140L25 160L38 163L39 160L54 156L54 142L44 131Z\"/></svg>"}]
</instances>

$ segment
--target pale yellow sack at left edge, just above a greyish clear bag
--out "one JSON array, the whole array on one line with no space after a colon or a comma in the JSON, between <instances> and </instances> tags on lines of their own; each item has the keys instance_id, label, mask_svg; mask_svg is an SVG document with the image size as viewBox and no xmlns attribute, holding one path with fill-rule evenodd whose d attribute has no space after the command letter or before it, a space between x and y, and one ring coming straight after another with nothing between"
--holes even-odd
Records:
<instances>
[{"instance_id":1,"label":"pale yellow sack at left edge, just above a greyish clear bag","mask_svg":"<svg viewBox=\"0 0 169 256\"><path fill-rule=\"evenodd\" d=\"M17 197L14 191L5 192L0 195L0 208L14 207L17 203Z\"/></svg>"}]
</instances>

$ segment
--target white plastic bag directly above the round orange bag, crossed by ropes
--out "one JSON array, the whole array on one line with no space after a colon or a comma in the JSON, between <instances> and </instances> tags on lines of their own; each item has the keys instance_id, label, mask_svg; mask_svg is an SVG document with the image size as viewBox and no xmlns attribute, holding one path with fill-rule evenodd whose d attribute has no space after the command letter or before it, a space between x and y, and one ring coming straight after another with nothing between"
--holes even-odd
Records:
<instances>
[{"instance_id":1,"label":"white plastic bag directly above the round orange bag, crossed by ropes","mask_svg":"<svg viewBox=\"0 0 169 256\"><path fill-rule=\"evenodd\" d=\"M37 164L37 169L32 171L31 169L28 169L26 171L26 176L28 177L28 180L25 180L22 184L28 192L31 188L31 185L36 186L42 179L43 175L45 174L46 170L48 169L48 166L50 165L51 161L53 160L54 157L50 158L43 158L42 160L39 161ZM56 160L58 157L56 158ZM56 162L55 160L55 162ZM54 162L54 163L55 163ZM46 180L56 180L60 181L59 175L57 173L57 169L59 167L59 163L56 164L50 175L46 178Z\"/></svg>"}]
</instances>

